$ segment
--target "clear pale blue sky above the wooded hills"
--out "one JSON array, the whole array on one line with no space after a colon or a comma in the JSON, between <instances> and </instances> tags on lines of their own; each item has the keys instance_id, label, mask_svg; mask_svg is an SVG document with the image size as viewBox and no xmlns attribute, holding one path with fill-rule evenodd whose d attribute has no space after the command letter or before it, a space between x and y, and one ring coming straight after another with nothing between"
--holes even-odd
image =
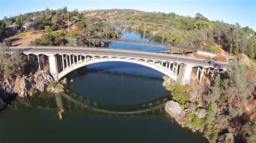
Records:
<instances>
[{"instance_id":1,"label":"clear pale blue sky above the wooded hills","mask_svg":"<svg viewBox=\"0 0 256 143\"><path fill-rule=\"evenodd\" d=\"M0 19L19 13L58 9L136 9L142 11L175 12L178 15L194 17L197 12L210 20L239 23L256 30L255 0L0 0Z\"/></svg>"}]
</instances>

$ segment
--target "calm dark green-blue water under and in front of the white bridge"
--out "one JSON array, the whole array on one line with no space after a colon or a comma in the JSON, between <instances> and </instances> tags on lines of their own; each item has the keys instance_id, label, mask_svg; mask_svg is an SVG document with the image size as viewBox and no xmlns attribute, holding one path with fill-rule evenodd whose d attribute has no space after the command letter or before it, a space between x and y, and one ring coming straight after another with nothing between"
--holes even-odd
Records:
<instances>
[{"instance_id":1,"label":"calm dark green-blue water under and in front of the white bridge","mask_svg":"<svg viewBox=\"0 0 256 143\"><path fill-rule=\"evenodd\" d=\"M0 112L0 142L207 142L163 109L163 74L124 62L74 71L60 94L17 98ZM59 108L68 109L60 120Z\"/></svg>"}]
</instances>

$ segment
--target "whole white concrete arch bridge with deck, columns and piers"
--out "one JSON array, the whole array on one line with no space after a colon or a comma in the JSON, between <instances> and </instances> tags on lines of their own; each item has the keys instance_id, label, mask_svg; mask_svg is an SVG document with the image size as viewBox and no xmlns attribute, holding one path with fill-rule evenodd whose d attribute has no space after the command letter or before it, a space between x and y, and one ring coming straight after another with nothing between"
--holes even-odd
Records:
<instances>
[{"instance_id":1,"label":"whole white concrete arch bridge with deck, columns and piers","mask_svg":"<svg viewBox=\"0 0 256 143\"><path fill-rule=\"evenodd\" d=\"M104 48L78 47L10 47L10 53L21 52L38 62L41 69L45 59L49 60L50 73L59 81L66 74L92 63L107 61L131 62L153 68L176 81L180 78L183 84L190 83L192 68L197 68L196 76L201 81L207 69L207 74L214 75L217 70L225 70L227 63L217 62L220 67L214 68L202 59L189 58L182 55L163 53L124 51ZM37 57L37 58L35 58Z\"/></svg>"}]
</instances>

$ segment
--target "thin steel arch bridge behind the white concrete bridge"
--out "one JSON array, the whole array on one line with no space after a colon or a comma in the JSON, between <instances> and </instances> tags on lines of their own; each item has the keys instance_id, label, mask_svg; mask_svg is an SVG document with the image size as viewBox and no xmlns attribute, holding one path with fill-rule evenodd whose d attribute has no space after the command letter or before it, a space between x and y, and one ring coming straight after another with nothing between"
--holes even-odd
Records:
<instances>
[{"instance_id":1,"label":"thin steel arch bridge behind the white concrete bridge","mask_svg":"<svg viewBox=\"0 0 256 143\"><path fill-rule=\"evenodd\" d=\"M143 32L142 40L131 40L126 37L127 29L132 29L132 27L143 28L143 31L140 31ZM197 52L197 49L184 32L164 24L104 20L87 25L80 35L83 35L90 42L123 42L127 44L160 46L177 48L188 52ZM113 37L113 35L117 35L117 37ZM167 35L170 36L167 37ZM158 38L159 42L152 42L155 38ZM178 42L178 45L174 45L174 42Z\"/></svg>"}]
</instances>

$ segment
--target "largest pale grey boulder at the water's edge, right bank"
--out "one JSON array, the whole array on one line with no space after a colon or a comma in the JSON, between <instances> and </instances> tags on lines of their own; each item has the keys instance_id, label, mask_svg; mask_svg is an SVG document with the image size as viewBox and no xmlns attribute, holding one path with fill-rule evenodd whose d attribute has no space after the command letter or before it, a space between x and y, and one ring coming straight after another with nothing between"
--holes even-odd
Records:
<instances>
[{"instance_id":1,"label":"largest pale grey boulder at the water's edge, right bank","mask_svg":"<svg viewBox=\"0 0 256 143\"><path fill-rule=\"evenodd\" d=\"M165 104L165 110L176 119L178 124L185 124L191 121L191 118L186 115L185 111L179 106L178 102L168 101Z\"/></svg>"}]
</instances>

